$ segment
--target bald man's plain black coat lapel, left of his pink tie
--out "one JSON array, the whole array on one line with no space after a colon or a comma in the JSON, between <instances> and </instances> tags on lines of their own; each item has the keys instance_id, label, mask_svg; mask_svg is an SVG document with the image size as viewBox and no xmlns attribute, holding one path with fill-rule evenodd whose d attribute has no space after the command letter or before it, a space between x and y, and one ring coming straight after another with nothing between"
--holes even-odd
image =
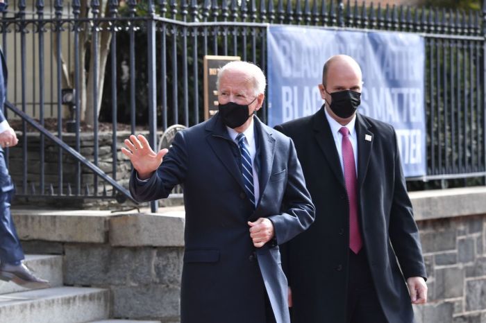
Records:
<instances>
[{"instance_id":1,"label":"bald man's plain black coat lapel, left of his pink tie","mask_svg":"<svg viewBox=\"0 0 486 323\"><path fill-rule=\"evenodd\" d=\"M333 133L330 130L326 114L324 113L324 105L321 107L313 117L314 121L314 137L319 144L324 156L326 157L330 168L341 185L346 188L344 183L344 176L340 163L340 157L337 154L336 143L334 142Z\"/></svg>"}]
</instances>

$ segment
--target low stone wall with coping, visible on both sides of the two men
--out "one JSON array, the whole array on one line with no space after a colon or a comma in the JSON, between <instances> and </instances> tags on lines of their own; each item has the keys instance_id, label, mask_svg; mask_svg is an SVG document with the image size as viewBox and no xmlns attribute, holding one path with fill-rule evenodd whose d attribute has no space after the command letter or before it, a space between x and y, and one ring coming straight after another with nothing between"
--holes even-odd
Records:
<instances>
[{"instance_id":1,"label":"low stone wall with coping, visible on both sides of the two men","mask_svg":"<svg viewBox=\"0 0 486 323\"><path fill-rule=\"evenodd\" d=\"M410 198L428 271L417 323L486 322L486 188ZM176 323L184 211L160 212L15 211L15 222L27 252L64 255L65 283L109 288L112 317Z\"/></svg>"}]
</instances>

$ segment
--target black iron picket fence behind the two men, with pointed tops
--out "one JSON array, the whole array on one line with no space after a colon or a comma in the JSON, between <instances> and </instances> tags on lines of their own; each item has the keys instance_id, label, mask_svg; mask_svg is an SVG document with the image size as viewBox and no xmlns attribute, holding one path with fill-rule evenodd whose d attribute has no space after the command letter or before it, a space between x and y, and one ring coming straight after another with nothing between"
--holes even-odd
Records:
<instances>
[{"instance_id":1,"label":"black iron picket fence behind the two men, with pointed tops","mask_svg":"<svg viewBox=\"0 0 486 323\"><path fill-rule=\"evenodd\" d=\"M269 24L424 35L428 172L420 180L486 176L486 10L326 0L21 0L8 8L0 24L8 100L41 127L55 125L58 139L104 173L49 146L22 119L21 147L10 149L17 195L126 194L109 184L126 186L121 139L146 130L156 146L169 125L202 121L203 56L238 55L265 70ZM263 121L266 113L264 105Z\"/></svg>"}]
</instances>

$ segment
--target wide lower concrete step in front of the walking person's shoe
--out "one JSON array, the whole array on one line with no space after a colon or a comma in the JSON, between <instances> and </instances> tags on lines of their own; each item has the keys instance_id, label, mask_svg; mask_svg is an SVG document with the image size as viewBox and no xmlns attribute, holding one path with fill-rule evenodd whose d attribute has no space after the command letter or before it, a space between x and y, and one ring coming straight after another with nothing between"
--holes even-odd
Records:
<instances>
[{"instance_id":1,"label":"wide lower concrete step in front of the walking person's shoe","mask_svg":"<svg viewBox=\"0 0 486 323\"><path fill-rule=\"evenodd\" d=\"M58 287L0 295L1 322L80 323L105 320L108 290Z\"/></svg>"}]
</instances>

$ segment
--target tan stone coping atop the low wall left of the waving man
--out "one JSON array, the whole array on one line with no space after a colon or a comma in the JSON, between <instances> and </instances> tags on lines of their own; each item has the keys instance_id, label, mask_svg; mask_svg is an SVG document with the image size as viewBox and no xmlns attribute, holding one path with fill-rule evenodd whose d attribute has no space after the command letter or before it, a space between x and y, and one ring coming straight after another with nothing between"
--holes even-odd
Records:
<instances>
[{"instance_id":1,"label":"tan stone coping atop the low wall left of the waving man","mask_svg":"<svg viewBox=\"0 0 486 323\"><path fill-rule=\"evenodd\" d=\"M149 210L147 210L149 211ZM24 243L110 243L135 247L146 244L167 246L183 244L185 211L183 207L160 208L158 213L143 219L137 211L116 212L91 210L34 210L12 209L17 234ZM116 222L113 222L117 220ZM149 231L146 231L147 228ZM164 234L161 234L162 229ZM139 232L139 234L137 234ZM140 234L142 232L143 234ZM136 238L127 236L136 235ZM140 235L140 237L138 237ZM28 246L29 253L35 246ZM62 254L61 250L53 250Z\"/></svg>"}]
</instances>

